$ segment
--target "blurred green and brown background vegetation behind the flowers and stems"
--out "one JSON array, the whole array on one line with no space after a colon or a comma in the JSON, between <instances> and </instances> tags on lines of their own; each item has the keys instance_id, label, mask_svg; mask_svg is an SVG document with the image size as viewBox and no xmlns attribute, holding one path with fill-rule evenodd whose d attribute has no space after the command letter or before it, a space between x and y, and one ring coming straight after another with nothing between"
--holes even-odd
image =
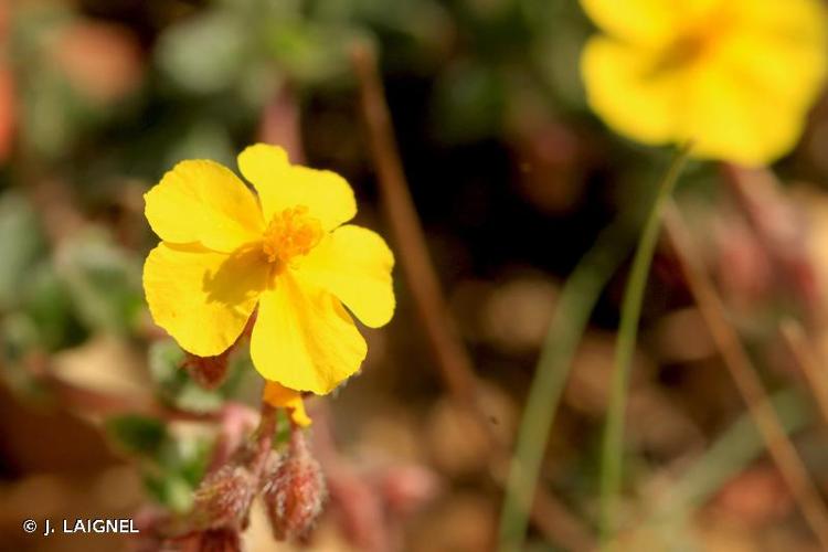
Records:
<instances>
[{"instance_id":1,"label":"blurred green and brown background vegetation behind the flowers and stems","mask_svg":"<svg viewBox=\"0 0 828 552\"><path fill-rule=\"evenodd\" d=\"M187 511L215 426L245 415L227 404L256 407L262 382L243 352L229 381L204 391L146 308L141 264L157 237L142 193L178 160L235 167L248 144L283 144L295 161L343 174L357 223L389 235L350 57L358 42L378 52L489 427L445 386L397 268L396 315L363 329L362 373L308 404L330 486L309 546L491 550L505 466L488 433L512 442L562 282L612 221L639 216L671 155L618 138L587 109L578 55L593 32L563 0L3 0L0 550L157 550L123 535L26 535L21 522ZM773 173L691 162L677 192L820 491L825 421L778 327L800 320L822 358L826 184L822 98ZM565 511L549 512L551 532L531 526L528 550L570 549L554 539L559 523L594 527L627 264L592 317L551 434L538 436L549 438L539 486ZM629 550L819 549L666 244L634 370L625 485L641 522ZM676 485L684 499L652 521L654 497ZM293 550L263 528L254 514L250 550Z\"/></svg>"}]
</instances>

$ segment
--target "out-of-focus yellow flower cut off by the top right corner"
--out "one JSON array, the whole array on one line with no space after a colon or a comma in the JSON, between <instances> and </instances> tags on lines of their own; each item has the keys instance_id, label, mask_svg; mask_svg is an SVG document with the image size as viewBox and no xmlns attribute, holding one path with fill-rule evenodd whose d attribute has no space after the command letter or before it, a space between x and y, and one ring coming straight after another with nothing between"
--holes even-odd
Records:
<instances>
[{"instance_id":1,"label":"out-of-focus yellow flower cut off by the top right corner","mask_svg":"<svg viewBox=\"0 0 828 552\"><path fill-rule=\"evenodd\" d=\"M605 34L581 68L591 107L645 144L763 164L794 147L828 64L819 0L581 0Z\"/></svg>"}]
</instances>

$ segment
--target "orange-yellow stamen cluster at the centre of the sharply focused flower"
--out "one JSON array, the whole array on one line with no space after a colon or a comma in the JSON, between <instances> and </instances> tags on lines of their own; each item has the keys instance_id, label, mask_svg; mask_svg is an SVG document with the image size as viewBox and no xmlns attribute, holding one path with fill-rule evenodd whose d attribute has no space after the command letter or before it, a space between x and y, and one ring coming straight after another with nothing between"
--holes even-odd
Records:
<instances>
[{"instance_id":1,"label":"orange-yellow stamen cluster at the centre of the sharply focused flower","mask_svg":"<svg viewBox=\"0 0 828 552\"><path fill-rule=\"evenodd\" d=\"M308 208L285 209L270 219L262 238L262 252L269 263L290 263L306 255L322 238L319 219L308 214Z\"/></svg>"}]
</instances>

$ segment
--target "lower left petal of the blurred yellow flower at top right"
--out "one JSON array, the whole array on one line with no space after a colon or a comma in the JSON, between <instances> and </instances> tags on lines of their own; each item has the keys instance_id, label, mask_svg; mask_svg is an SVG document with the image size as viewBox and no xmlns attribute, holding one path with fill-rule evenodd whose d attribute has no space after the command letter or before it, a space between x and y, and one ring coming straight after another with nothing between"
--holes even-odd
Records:
<instances>
[{"instance_id":1,"label":"lower left petal of the blurred yellow flower at top right","mask_svg":"<svg viewBox=\"0 0 828 552\"><path fill-rule=\"evenodd\" d=\"M656 72L658 53L606 36L591 39L581 71L592 109L615 131L645 144L677 139L684 72Z\"/></svg>"}]
</instances>

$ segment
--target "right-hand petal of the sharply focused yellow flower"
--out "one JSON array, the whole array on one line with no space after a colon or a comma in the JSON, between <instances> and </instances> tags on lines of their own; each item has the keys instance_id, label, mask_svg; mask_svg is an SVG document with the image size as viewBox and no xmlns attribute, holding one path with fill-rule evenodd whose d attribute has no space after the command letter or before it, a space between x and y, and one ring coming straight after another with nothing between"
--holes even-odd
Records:
<instances>
[{"instance_id":1,"label":"right-hand petal of the sharply focused yellow flower","mask_svg":"<svg viewBox=\"0 0 828 552\"><path fill-rule=\"evenodd\" d=\"M394 256L382 237L349 224L311 250L299 274L339 297L365 326L379 328L394 314L393 266Z\"/></svg>"}]
</instances>

